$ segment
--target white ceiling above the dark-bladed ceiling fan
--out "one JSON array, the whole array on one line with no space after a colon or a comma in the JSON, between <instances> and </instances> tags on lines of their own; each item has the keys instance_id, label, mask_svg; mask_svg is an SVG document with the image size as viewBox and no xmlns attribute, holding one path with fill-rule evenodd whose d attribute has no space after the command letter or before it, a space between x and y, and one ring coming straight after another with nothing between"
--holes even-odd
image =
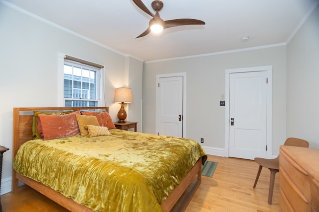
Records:
<instances>
[{"instance_id":1,"label":"white ceiling above the dark-bladed ceiling fan","mask_svg":"<svg viewBox=\"0 0 319 212\"><path fill-rule=\"evenodd\" d=\"M160 35L150 33L135 39L147 29L151 16L132 0L1 1L143 61L283 45L319 2L162 0L160 17L163 20L194 18L206 24L168 28ZM154 12L152 1L143 0ZM243 36L249 36L249 41L242 42Z\"/></svg>"}]
</instances>

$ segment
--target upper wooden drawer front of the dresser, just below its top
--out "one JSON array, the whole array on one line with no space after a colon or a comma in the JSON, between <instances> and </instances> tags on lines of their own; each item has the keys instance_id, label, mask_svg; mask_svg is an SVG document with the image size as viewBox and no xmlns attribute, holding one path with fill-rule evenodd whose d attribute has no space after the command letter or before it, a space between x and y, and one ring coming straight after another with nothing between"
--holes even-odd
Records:
<instances>
[{"instance_id":1,"label":"upper wooden drawer front of the dresser, just below its top","mask_svg":"<svg viewBox=\"0 0 319 212\"><path fill-rule=\"evenodd\" d=\"M311 179L308 172L303 169L298 163L296 163L289 155L285 152L280 154L280 166L289 173L289 178L299 188L299 190L306 196L308 200L311 199Z\"/></svg>"}]
</instances>

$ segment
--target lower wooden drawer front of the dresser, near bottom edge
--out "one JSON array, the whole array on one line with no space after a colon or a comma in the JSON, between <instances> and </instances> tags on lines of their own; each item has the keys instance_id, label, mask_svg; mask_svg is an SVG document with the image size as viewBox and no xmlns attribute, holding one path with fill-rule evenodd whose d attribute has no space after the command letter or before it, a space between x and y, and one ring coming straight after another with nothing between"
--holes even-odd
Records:
<instances>
[{"instance_id":1,"label":"lower wooden drawer front of the dresser, near bottom edge","mask_svg":"<svg viewBox=\"0 0 319 212\"><path fill-rule=\"evenodd\" d=\"M286 203L286 205L290 205L295 212L311 212L310 198L307 198L303 194L283 169L280 169L279 171L279 185L280 189L283 191L284 198L287 199L286 202L288 203Z\"/></svg>"}]
</instances>

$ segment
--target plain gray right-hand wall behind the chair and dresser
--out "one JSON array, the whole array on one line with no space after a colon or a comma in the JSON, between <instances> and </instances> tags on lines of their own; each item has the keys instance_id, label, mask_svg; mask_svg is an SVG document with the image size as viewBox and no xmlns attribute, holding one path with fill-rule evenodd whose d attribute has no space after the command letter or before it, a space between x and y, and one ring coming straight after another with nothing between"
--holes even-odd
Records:
<instances>
[{"instance_id":1,"label":"plain gray right-hand wall behind the chair and dresser","mask_svg":"<svg viewBox=\"0 0 319 212\"><path fill-rule=\"evenodd\" d=\"M287 137L319 148L319 6L287 46Z\"/></svg>"}]
</instances>

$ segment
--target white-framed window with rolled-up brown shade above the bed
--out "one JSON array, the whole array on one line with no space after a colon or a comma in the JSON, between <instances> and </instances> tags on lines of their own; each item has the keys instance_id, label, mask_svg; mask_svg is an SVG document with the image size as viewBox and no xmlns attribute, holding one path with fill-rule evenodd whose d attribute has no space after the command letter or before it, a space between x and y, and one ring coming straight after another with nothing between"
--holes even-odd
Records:
<instances>
[{"instance_id":1,"label":"white-framed window with rolled-up brown shade above the bed","mask_svg":"<svg viewBox=\"0 0 319 212\"><path fill-rule=\"evenodd\" d=\"M66 56L63 66L63 96L65 107L97 107L99 106L100 80L103 66L77 59L68 60ZM72 58L74 59L74 58ZM80 61L80 62L78 62ZM96 64L93 64L96 65Z\"/></svg>"}]
</instances>

